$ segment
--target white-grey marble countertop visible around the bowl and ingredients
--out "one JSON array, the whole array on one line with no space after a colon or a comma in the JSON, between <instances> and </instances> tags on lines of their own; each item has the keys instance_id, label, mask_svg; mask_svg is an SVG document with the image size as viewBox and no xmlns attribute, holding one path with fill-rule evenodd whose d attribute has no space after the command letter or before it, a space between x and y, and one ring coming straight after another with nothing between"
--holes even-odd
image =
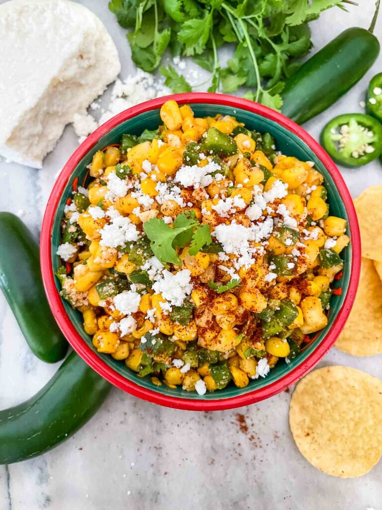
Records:
<instances>
[{"instance_id":1,"label":"white-grey marble countertop visible around the bowl and ingredients","mask_svg":"<svg viewBox=\"0 0 382 510\"><path fill-rule=\"evenodd\" d=\"M132 66L125 31L108 11L107 1L81 3L110 30L126 76ZM374 2L360 0L358 8L349 6L349 10L346 14L332 9L311 24L316 48L345 28L367 28ZM379 36L381 18L376 27ZM380 56L356 87L304 127L317 138L335 115L361 112L359 101L381 68ZM67 127L42 170L0 162L0 209L23 210L23 220L36 239L54 176L76 146L73 129ZM341 168L341 172L354 197L367 186L382 183L379 162L359 170ZM1 294L0 325L0 408L4 409L35 394L58 364L47 365L33 356ZM382 378L381 362L382 355L354 358L332 349L320 366L343 364ZM382 461L356 479L342 480L316 470L291 438L289 399L290 393L283 392L238 410L193 413L159 407L113 389L94 418L68 441L30 461L0 466L0 510L146 510L151 506L380 510ZM245 417L248 430L240 427L238 414Z\"/></svg>"}]
</instances>

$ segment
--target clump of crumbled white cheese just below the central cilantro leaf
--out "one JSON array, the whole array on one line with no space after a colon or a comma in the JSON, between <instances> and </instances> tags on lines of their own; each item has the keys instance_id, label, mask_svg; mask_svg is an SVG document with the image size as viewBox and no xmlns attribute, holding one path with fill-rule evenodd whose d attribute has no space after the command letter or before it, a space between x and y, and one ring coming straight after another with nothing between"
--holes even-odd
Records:
<instances>
[{"instance_id":1,"label":"clump of crumbled white cheese just below the central cilantro leaf","mask_svg":"<svg viewBox=\"0 0 382 510\"><path fill-rule=\"evenodd\" d=\"M190 279L191 272L188 269L182 269L175 274L165 269L161 277L153 284L152 289L157 294L162 294L171 306L180 307L193 290ZM163 304L165 303L160 303L161 308Z\"/></svg>"}]
</instances>

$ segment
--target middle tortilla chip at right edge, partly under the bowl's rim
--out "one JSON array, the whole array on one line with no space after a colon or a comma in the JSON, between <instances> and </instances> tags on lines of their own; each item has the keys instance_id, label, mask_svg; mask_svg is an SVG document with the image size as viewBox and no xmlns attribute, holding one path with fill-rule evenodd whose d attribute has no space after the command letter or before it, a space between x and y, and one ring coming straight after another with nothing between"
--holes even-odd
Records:
<instances>
[{"instance_id":1,"label":"middle tortilla chip at right edge, partly under the bowl's rim","mask_svg":"<svg viewBox=\"0 0 382 510\"><path fill-rule=\"evenodd\" d=\"M382 266L382 264L380 264ZM361 259L353 308L335 346L353 356L382 353L382 282L373 261Z\"/></svg>"}]
</instances>

